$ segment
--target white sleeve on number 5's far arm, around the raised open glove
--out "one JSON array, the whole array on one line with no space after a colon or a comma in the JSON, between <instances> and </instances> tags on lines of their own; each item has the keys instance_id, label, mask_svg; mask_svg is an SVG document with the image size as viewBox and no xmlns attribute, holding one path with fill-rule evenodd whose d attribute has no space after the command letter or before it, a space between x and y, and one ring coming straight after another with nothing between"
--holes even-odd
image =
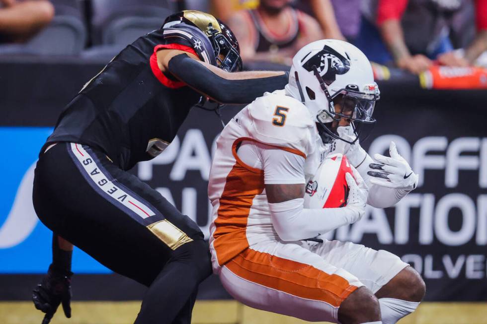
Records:
<instances>
[{"instance_id":1,"label":"white sleeve on number 5's far arm, around the raised open glove","mask_svg":"<svg viewBox=\"0 0 487 324\"><path fill-rule=\"evenodd\" d=\"M367 171L370 170L369 164L371 163L376 162L374 162L370 155L367 154L364 161L356 168L362 178L364 178L367 187L369 187L367 203L376 208L387 208L394 206L396 203L398 203L399 200L406 196L408 191L403 189L386 188L371 184L370 179L372 177L367 174Z\"/></svg>"}]
</instances>

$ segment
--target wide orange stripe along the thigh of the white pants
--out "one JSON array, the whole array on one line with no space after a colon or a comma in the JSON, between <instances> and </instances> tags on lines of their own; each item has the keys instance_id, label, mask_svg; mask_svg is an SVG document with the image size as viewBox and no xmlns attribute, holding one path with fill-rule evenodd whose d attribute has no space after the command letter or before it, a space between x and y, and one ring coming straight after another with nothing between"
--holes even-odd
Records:
<instances>
[{"instance_id":1,"label":"wide orange stripe along the thigh of the white pants","mask_svg":"<svg viewBox=\"0 0 487 324\"><path fill-rule=\"evenodd\" d=\"M252 249L243 251L225 266L243 279L334 307L357 289L337 274Z\"/></svg>"}]
</instances>

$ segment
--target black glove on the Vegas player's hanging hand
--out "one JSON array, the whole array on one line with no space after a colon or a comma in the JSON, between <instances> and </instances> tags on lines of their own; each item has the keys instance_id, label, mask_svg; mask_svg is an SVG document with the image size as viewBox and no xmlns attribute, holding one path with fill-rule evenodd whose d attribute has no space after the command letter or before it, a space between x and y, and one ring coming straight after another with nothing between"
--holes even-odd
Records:
<instances>
[{"instance_id":1,"label":"black glove on the Vegas player's hanging hand","mask_svg":"<svg viewBox=\"0 0 487 324\"><path fill-rule=\"evenodd\" d=\"M32 300L35 308L46 313L42 324L48 324L59 304L63 304L63 311L66 317L71 318L71 276L73 272L59 270L49 266L47 275L33 290Z\"/></svg>"}]
</instances>

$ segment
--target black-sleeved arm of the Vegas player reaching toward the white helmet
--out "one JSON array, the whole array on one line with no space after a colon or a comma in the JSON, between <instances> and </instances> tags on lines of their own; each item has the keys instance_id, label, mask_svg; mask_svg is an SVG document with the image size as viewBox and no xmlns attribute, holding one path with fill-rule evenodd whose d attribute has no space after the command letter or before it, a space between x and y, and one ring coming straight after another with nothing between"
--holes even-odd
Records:
<instances>
[{"instance_id":1,"label":"black-sleeved arm of the Vegas player reaching toward the white helmet","mask_svg":"<svg viewBox=\"0 0 487 324\"><path fill-rule=\"evenodd\" d=\"M283 89L288 82L287 72L227 72L177 50L159 51L158 65L162 72L171 73L202 95L222 104L248 104L264 92Z\"/></svg>"}]
</instances>

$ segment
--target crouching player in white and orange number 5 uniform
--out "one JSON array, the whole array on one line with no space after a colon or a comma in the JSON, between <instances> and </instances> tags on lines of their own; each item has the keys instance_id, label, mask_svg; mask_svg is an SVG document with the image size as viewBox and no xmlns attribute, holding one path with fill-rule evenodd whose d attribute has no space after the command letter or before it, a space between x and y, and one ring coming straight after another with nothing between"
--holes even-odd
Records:
<instances>
[{"instance_id":1,"label":"crouching player in white and orange number 5 uniform","mask_svg":"<svg viewBox=\"0 0 487 324\"><path fill-rule=\"evenodd\" d=\"M415 187L417 176L394 144L391 157L376 163L356 140L358 125L374 121L378 98L365 55L321 40L296 54L284 90L257 98L222 131L208 188L210 251L235 299L342 324L396 323L416 309L424 282L399 257L350 242L316 244L359 220L367 202L393 205ZM356 167L346 175L346 206L305 208L305 184L329 151L340 150Z\"/></svg>"}]
</instances>

